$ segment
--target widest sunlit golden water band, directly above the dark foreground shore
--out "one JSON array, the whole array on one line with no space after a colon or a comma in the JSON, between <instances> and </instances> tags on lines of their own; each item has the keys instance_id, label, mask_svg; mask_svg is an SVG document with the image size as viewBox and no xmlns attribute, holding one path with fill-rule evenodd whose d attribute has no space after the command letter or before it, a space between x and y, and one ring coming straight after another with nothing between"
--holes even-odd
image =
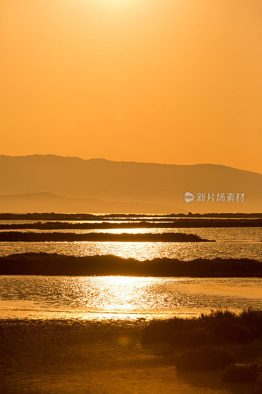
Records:
<instances>
[{"instance_id":1,"label":"widest sunlit golden water band, directly above the dark foreground shore","mask_svg":"<svg viewBox=\"0 0 262 394\"><path fill-rule=\"evenodd\" d=\"M249 306L262 307L261 278L0 277L1 317L150 319Z\"/></svg>"}]
</instances>

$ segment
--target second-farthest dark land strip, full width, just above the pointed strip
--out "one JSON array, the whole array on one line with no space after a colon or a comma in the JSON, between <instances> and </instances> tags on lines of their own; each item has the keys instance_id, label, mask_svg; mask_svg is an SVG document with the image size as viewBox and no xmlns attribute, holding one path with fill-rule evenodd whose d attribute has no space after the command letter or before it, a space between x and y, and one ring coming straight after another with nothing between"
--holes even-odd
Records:
<instances>
[{"instance_id":1,"label":"second-farthest dark land strip, full width, just above the pointed strip","mask_svg":"<svg viewBox=\"0 0 262 394\"><path fill-rule=\"evenodd\" d=\"M98 220L98 219L96 219ZM148 221L130 223L69 223L69 222L37 222L21 224L0 224L0 230L62 230L62 229L181 229L212 227L262 227L262 219L176 219L174 222L153 223Z\"/></svg>"}]
</instances>

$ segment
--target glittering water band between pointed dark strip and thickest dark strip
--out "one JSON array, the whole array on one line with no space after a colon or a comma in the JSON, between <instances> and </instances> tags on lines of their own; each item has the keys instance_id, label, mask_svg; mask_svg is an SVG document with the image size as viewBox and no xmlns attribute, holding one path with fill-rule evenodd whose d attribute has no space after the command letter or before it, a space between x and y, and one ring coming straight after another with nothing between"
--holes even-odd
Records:
<instances>
[{"instance_id":1,"label":"glittering water band between pointed dark strip and thickest dark strip","mask_svg":"<svg viewBox=\"0 0 262 394\"><path fill-rule=\"evenodd\" d=\"M250 258L262 261L259 242L0 242L1 255L21 252L72 256L115 255L123 258Z\"/></svg>"}]
</instances>

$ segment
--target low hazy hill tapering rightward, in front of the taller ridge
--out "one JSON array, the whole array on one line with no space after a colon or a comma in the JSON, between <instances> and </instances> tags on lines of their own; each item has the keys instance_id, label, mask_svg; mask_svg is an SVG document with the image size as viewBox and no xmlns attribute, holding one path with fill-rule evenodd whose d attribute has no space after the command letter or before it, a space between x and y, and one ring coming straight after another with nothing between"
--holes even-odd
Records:
<instances>
[{"instance_id":1,"label":"low hazy hill tapering rightward, in front of the taller ridge","mask_svg":"<svg viewBox=\"0 0 262 394\"><path fill-rule=\"evenodd\" d=\"M71 212L71 213L174 213L180 208L139 202L106 202L91 198L71 198L52 193L0 196L0 212ZM184 211L183 211L184 212Z\"/></svg>"}]
</instances>

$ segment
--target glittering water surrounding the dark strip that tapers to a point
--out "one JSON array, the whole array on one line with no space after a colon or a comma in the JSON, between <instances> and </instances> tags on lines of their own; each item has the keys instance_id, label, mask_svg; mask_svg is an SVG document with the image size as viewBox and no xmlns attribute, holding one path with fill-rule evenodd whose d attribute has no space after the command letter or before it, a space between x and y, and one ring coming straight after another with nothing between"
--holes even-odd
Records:
<instances>
[{"instance_id":1,"label":"glittering water surrounding the dark strip that tapers to a point","mask_svg":"<svg viewBox=\"0 0 262 394\"><path fill-rule=\"evenodd\" d=\"M28 231L28 230L26 230ZM46 230L39 230L40 232ZM52 231L52 230L51 230ZM53 230L57 231L57 230ZM108 233L194 233L217 242L0 242L0 256L20 252L63 253L88 256L112 254L138 260L172 257L181 260L195 258L250 258L262 261L262 228L193 228L193 229L111 229L58 230L62 232Z\"/></svg>"}]
</instances>

